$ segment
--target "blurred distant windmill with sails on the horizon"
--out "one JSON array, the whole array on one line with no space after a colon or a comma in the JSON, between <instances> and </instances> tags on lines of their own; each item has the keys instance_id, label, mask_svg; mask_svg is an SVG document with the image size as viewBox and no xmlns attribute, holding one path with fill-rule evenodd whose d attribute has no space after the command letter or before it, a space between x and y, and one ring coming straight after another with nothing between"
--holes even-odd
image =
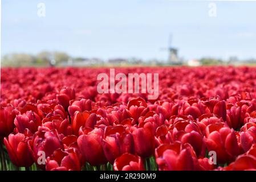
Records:
<instances>
[{"instance_id":1,"label":"blurred distant windmill with sails on the horizon","mask_svg":"<svg viewBox=\"0 0 256 182\"><path fill-rule=\"evenodd\" d=\"M168 56L168 63L169 64L182 64L180 59L178 59L178 49L172 47L172 39L173 39L173 35L170 34L169 35L169 40L168 40L168 52L169 52L169 56ZM164 50L166 50L166 48L164 48Z\"/></svg>"}]
</instances>

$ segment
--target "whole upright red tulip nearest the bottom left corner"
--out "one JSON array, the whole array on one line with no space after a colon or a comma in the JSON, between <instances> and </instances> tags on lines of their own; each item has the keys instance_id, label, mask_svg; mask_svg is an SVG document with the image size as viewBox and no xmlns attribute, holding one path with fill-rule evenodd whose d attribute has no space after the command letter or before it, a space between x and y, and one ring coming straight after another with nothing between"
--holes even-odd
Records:
<instances>
[{"instance_id":1,"label":"whole upright red tulip nearest the bottom left corner","mask_svg":"<svg viewBox=\"0 0 256 182\"><path fill-rule=\"evenodd\" d=\"M10 134L8 139L4 138L6 150L11 162L18 167L30 167L34 161L27 147L27 138L24 134Z\"/></svg>"}]
</instances>

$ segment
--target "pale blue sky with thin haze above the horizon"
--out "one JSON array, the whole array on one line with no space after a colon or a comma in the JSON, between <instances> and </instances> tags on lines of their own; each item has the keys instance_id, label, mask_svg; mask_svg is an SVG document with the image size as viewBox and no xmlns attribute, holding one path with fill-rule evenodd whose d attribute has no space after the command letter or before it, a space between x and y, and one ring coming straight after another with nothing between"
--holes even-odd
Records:
<instances>
[{"instance_id":1,"label":"pale blue sky with thin haze above the horizon","mask_svg":"<svg viewBox=\"0 0 256 182\"><path fill-rule=\"evenodd\" d=\"M256 1L213 2L2 0L1 53L166 60L172 34L185 60L256 58ZM46 16L38 16L38 3Z\"/></svg>"}]
</instances>

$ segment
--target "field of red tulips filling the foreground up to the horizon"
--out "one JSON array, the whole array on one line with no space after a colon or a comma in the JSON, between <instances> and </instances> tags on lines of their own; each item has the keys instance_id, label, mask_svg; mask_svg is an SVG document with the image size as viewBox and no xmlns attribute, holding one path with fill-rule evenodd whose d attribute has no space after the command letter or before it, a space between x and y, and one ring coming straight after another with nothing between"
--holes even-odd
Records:
<instances>
[{"instance_id":1,"label":"field of red tulips filling the foreground up to the horizon","mask_svg":"<svg viewBox=\"0 0 256 182\"><path fill-rule=\"evenodd\" d=\"M2 68L2 170L256 170L256 68L159 73L159 98L97 92L109 68Z\"/></svg>"}]
</instances>

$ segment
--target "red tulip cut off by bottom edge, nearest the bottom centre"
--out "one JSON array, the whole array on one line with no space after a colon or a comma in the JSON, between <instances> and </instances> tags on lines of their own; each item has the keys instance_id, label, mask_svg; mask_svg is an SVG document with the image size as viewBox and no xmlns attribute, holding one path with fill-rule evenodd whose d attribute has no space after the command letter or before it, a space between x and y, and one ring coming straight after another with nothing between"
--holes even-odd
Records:
<instances>
[{"instance_id":1,"label":"red tulip cut off by bottom edge, nearest the bottom centre","mask_svg":"<svg viewBox=\"0 0 256 182\"><path fill-rule=\"evenodd\" d=\"M143 171L143 160L136 155L125 153L117 158L113 164L114 171Z\"/></svg>"}]
</instances>

